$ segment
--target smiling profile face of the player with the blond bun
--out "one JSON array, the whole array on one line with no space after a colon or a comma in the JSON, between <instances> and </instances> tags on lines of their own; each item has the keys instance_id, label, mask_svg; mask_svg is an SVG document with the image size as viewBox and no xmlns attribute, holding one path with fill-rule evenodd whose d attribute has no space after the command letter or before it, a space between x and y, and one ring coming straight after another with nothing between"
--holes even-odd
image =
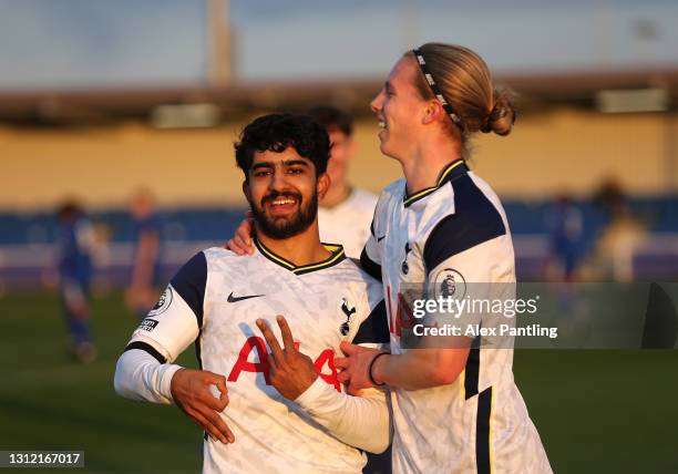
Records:
<instances>
[{"instance_id":1,"label":"smiling profile face of the player with the blond bun","mask_svg":"<svg viewBox=\"0 0 678 474\"><path fill-rule=\"evenodd\" d=\"M397 159L412 153L422 125L421 113L427 101L414 85L418 73L414 60L403 56L396 63L383 87L370 103L381 128L381 153Z\"/></svg>"}]
</instances>

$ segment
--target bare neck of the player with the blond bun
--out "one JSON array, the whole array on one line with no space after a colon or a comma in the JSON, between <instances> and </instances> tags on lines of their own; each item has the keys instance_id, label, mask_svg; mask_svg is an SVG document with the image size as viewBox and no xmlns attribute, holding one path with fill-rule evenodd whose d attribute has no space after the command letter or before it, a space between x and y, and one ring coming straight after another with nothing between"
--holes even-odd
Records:
<instances>
[{"instance_id":1,"label":"bare neck of the player with the blond bun","mask_svg":"<svg viewBox=\"0 0 678 474\"><path fill-rule=\"evenodd\" d=\"M428 143L430 145L430 142ZM401 159L400 165L407 181L408 195L411 196L435 186L445 166L461 158L460 152L459 144L448 140L435 143L433 146L424 144L414 156Z\"/></svg>"}]
</instances>

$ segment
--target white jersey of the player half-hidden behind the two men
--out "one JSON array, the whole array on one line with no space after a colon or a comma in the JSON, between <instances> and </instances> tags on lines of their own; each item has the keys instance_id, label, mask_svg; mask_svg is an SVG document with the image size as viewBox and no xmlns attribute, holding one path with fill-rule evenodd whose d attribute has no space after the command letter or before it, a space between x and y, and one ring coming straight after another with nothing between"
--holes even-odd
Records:
<instances>
[{"instance_id":1,"label":"white jersey of the player half-hidden behind the two men","mask_svg":"<svg viewBox=\"0 0 678 474\"><path fill-rule=\"evenodd\" d=\"M376 205L377 195L355 188L343 203L335 207L318 207L320 239L339 243L346 255L360 258L370 236L370 223Z\"/></svg>"}]
</instances>

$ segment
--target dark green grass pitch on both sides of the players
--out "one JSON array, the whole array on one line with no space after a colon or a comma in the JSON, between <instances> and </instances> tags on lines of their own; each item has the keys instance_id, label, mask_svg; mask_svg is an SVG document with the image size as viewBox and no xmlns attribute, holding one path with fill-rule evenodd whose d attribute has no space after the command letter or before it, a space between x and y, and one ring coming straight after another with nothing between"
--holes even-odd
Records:
<instances>
[{"instance_id":1,"label":"dark green grass pitch on both sides of the players","mask_svg":"<svg viewBox=\"0 0 678 474\"><path fill-rule=\"evenodd\" d=\"M100 354L81 365L55 296L0 298L0 450L83 450L79 472L198 472L196 425L113 391L136 326L121 296L93 316ZM179 363L195 367L192 349ZM678 472L678 351L522 350L514 372L555 472Z\"/></svg>"}]
</instances>

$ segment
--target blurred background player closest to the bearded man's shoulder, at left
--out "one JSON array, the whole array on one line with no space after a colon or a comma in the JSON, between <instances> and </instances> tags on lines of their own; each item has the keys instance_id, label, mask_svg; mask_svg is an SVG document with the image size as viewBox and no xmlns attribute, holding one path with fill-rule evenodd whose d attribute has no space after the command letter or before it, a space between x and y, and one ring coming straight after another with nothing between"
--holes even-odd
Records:
<instances>
[{"instance_id":1,"label":"blurred background player closest to the bearded man's shoulder, at left","mask_svg":"<svg viewBox=\"0 0 678 474\"><path fill-rule=\"evenodd\" d=\"M130 309L143 319L158 296L156 276L161 256L161 220L155 212L155 199L146 189L140 189L134 195L131 213L136 247L125 300Z\"/></svg>"}]
</instances>

